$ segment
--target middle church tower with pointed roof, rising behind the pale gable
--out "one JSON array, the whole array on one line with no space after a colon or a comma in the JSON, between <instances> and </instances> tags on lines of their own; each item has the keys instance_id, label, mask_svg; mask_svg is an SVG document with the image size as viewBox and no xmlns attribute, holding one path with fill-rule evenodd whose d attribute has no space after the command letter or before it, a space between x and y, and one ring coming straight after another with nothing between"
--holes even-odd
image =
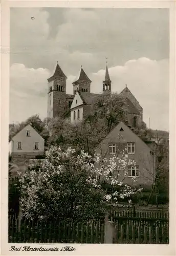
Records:
<instances>
[{"instance_id":1,"label":"middle church tower with pointed roof, rising behind the pale gable","mask_svg":"<svg viewBox=\"0 0 176 256\"><path fill-rule=\"evenodd\" d=\"M89 77L85 74L82 66L78 73L78 76L76 80L72 83L73 84L73 94L76 93L76 91L80 92L91 92L91 80Z\"/></svg>"}]
</instances>

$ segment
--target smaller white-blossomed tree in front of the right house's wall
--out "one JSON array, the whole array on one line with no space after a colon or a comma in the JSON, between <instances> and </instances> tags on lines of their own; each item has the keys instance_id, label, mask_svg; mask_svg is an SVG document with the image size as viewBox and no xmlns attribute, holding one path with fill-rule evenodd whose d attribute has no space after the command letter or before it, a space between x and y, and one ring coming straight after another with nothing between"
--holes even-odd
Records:
<instances>
[{"instance_id":1,"label":"smaller white-blossomed tree in front of the right house's wall","mask_svg":"<svg viewBox=\"0 0 176 256\"><path fill-rule=\"evenodd\" d=\"M117 154L112 155L109 160L100 154L95 155L96 173L102 177L106 184L109 185L105 190L104 199L110 206L111 210L117 206L119 199L128 199L131 202L131 197L139 193L142 188L130 186L125 183L125 178L128 176L128 166L135 166L134 160L128 159L127 150L117 150ZM136 177L131 177L132 183L136 182Z\"/></svg>"}]
</instances>

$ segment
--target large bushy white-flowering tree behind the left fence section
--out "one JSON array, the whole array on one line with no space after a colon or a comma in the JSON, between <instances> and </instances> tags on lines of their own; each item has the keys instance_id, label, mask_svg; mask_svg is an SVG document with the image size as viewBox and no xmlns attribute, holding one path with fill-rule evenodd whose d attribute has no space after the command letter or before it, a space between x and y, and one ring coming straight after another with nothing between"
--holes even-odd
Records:
<instances>
[{"instance_id":1,"label":"large bushy white-flowering tree behind the left fence section","mask_svg":"<svg viewBox=\"0 0 176 256\"><path fill-rule=\"evenodd\" d=\"M24 215L45 220L103 216L103 193L93 170L88 154L52 146L39 168L20 175Z\"/></svg>"}]
</instances>

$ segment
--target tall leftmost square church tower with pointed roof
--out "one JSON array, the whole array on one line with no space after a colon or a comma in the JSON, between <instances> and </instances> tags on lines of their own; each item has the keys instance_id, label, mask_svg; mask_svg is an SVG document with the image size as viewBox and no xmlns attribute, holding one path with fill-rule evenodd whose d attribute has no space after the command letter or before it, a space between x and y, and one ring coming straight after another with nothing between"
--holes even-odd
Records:
<instances>
[{"instance_id":1,"label":"tall leftmost square church tower with pointed roof","mask_svg":"<svg viewBox=\"0 0 176 256\"><path fill-rule=\"evenodd\" d=\"M62 116L67 108L66 80L67 76L57 62L54 74L48 79L47 116L50 118Z\"/></svg>"}]
</instances>

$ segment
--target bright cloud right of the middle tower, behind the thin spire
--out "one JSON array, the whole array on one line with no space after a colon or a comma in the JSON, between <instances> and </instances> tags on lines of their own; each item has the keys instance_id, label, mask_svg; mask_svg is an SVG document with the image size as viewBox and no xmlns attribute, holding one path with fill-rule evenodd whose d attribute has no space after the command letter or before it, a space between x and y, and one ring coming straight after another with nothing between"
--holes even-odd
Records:
<instances>
[{"instance_id":1,"label":"bright cloud right of the middle tower, behind the thin spire","mask_svg":"<svg viewBox=\"0 0 176 256\"><path fill-rule=\"evenodd\" d=\"M143 119L152 129L169 129L169 60L146 57L110 67L112 91L120 93L125 84L143 108ZM92 74L92 92L102 92L105 70Z\"/></svg>"}]
</instances>

